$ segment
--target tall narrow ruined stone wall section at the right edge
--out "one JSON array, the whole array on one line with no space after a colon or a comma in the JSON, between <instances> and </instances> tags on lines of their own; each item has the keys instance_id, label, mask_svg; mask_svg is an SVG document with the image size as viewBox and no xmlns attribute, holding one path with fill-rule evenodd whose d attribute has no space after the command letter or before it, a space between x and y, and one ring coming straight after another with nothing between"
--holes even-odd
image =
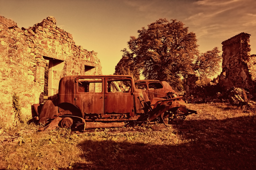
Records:
<instances>
[{"instance_id":1,"label":"tall narrow ruined stone wall section at the right edge","mask_svg":"<svg viewBox=\"0 0 256 170\"><path fill-rule=\"evenodd\" d=\"M219 83L230 87L254 88L255 55L250 55L250 34L240 33L222 42L222 73Z\"/></svg>"}]
</instances>

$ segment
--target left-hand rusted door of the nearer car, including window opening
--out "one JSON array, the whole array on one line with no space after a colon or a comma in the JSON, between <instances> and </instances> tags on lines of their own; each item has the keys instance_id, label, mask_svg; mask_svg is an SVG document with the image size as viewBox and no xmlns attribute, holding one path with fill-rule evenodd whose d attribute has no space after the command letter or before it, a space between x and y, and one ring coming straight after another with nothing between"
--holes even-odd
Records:
<instances>
[{"instance_id":1,"label":"left-hand rusted door of the nearer car, including window opening","mask_svg":"<svg viewBox=\"0 0 256 170\"><path fill-rule=\"evenodd\" d=\"M78 77L75 104L82 113L104 114L104 78Z\"/></svg>"}]
</instances>

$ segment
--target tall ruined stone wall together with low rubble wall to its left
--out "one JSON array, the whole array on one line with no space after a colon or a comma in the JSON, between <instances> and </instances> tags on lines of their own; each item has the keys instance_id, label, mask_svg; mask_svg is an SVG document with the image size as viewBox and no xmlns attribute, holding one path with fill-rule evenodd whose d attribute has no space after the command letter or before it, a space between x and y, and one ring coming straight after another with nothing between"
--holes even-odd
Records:
<instances>
[{"instance_id":1,"label":"tall ruined stone wall together with low rubble wall to its left","mask_svg":"<svg viewBox=\"0 0 256 170\"><path fill-rule=\"evenodd\" d=\"M240 33L222 42L222 72L214 80L214 85L197 86L198 77L189 75L186 81L186 98L207 102L212 96L231 87L246 89L255 94L256 55L251 55L250 34ZM215 96L216 97L216 96Z\"/></svg>"}]
</instances>

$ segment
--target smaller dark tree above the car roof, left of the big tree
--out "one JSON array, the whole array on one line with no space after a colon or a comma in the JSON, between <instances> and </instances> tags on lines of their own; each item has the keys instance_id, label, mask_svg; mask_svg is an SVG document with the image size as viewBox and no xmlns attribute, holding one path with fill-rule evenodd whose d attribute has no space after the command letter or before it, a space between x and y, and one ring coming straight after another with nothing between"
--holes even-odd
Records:
<instances>
[{"instance_id":1,"label":"smaller dark tree above the car roof, left of the big tree","mask_svg":"<svg viewBox=\"0 0 256 170\"><path fill-rule=\"evenodd\" d=\"M123 56L121 60L115 66L115 75L132 75L135 80L139 80L140 78L140 70L137 68L137 64L133 59L133 53L127 51L126 48L121 50L123 52Z\"/></svg>"}]
</instances>

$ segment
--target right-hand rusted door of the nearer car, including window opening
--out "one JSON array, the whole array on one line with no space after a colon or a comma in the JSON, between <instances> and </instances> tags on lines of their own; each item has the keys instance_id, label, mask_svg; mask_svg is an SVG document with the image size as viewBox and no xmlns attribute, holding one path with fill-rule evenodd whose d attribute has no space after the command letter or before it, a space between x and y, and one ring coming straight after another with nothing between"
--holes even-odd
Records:
<instances>
[{"instance_id":1,"label":"right-hand rusted door of the nearer car, including window opening","mask_svg":"<svg viewBox=\"0 0 256 170\"><path fill-rule=\"evenodd\" d=\"M105 78L104 114L134 116L132 80L129 78Z\"/></svg>"}]
</instances>

